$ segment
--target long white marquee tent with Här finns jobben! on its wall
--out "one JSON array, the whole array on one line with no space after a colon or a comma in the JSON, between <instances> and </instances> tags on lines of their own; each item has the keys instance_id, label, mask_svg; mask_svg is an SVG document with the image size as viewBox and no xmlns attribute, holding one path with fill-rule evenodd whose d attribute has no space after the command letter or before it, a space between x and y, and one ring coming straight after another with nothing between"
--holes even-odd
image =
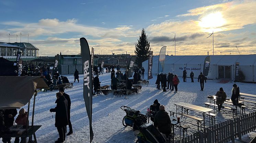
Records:
<instances>
[{"instance_id":1,"label":"long white marquee tent with H\u00e4r finns jobben! on its wall","mask_svg":"<svg viewBox=\"0 0 256 143\"><path fill-rule=\"evenodd\" d=\"M203 62L206 55L197 56L165 56L164 73L174 73L182 77L183 70L187 71L187 77L190 72L194 72L197 78L200 72L203 72ZM246 82L255 82L256 75L256 54L254 55L211 55L210 70L208 79L230 79L235 80L235 63L240 63L240 70L245 75ZM159 56L153 56L152 74L158 74ZM148 60L142 63L145 74L148 73Z\"/></svg>"}]
</instances>

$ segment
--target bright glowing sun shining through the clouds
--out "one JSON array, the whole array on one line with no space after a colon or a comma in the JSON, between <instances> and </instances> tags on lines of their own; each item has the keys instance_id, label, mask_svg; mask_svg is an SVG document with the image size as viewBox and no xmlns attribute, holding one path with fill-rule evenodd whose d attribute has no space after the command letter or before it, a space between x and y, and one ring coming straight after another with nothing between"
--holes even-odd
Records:
<instances>
[{"instance_id":1,"label":"bright glowing sun shining through the clouds","mask_svg":"<svg viewBox=\"0 0 256 143\"><path fill-rule=\"evenodd\" d=\"M220 12L211 13L206 16L203 16L198 25L203 29L205 32L219 32L223 31L221 27L226 23L225 19L222 17Z\"/></svg>"}]
</instances>

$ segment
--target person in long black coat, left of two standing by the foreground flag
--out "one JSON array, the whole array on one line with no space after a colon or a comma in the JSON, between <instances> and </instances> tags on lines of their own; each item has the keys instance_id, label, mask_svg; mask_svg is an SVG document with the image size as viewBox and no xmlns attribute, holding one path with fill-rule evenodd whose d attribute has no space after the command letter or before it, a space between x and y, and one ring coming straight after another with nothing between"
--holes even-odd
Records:
<instances>
[{"instance_id":1,"label":"person in long black coat, left of two standing by the foreground flag","mask_svg":"<svg viewBox=\"0 0 256 143\"><path fill-rule=\"evenodd\" d=\"M50 112L55 114L55 127L59 132L59 138L55 143L63 143L66 140L65 126L68 125L68 101L61 92L56 93L57 103L55 108L50 109Z\"/></svg>"}]
</instances>

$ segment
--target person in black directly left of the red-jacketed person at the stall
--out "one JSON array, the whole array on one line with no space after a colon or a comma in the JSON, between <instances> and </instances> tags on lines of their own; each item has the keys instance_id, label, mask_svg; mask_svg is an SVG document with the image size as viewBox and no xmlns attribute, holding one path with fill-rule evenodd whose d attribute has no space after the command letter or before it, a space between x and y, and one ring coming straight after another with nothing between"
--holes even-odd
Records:
<instances>
[{"instance_id":1,"label":"person in black directly left of the red-jacketed person at the stall","mask_svg":"<svg viewBox=\"0 0 256 143\"><path fill-rule=\"evenodd\" d=\"M10 128L13 126L14 117L17 115L16 109L5 109L4 110L4 126ZM11 143L11 138L3 138L3 143Z\"/></svg>"}]
</instances>

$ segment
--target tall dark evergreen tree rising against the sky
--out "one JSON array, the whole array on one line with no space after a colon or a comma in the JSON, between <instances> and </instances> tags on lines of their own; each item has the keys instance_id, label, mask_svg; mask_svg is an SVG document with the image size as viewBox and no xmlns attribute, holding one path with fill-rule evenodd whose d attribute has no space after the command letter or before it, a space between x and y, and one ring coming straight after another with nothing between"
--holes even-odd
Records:
<instances>
[{"instance_id":1,"label":"tall dark evergreen tree rising against the sky","mask_svg":"<svg viewBox=\"0 0 256 143\"><path fill-rule=\"evenodd\" d=\"M138 44L135 45L134 51L134 53L137 55L136 63L139 68L142 68L142 62L148 59L149 51L151 49L149 43L148 36L143 28L140 39L138 39Z\"/></svg>"}]
</instances>

